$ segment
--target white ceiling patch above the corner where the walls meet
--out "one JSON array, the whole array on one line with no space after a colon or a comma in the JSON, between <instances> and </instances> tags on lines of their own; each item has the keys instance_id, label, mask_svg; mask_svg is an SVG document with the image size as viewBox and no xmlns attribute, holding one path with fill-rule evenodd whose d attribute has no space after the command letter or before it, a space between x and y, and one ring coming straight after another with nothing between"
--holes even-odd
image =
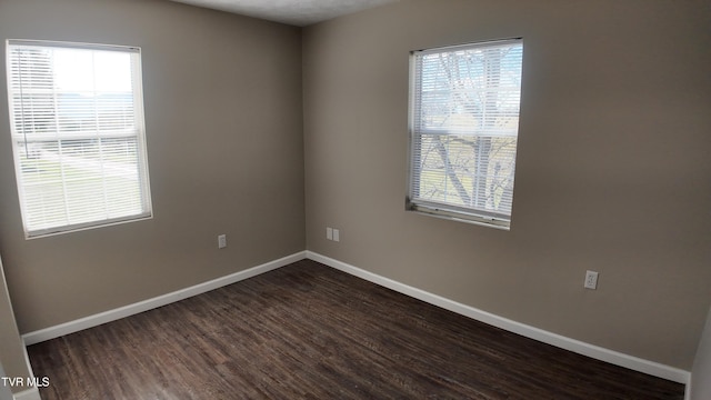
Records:
<instances>
[{"instance_id":1,"label":"white ceiling patch above the corner where the walls meet","mask_svg":"<svg viewBox=\"0 0 711 400\"><path fill-rule=\"evenodd\" d=\"M399 0L172 0L306 27Z\"/></svg>"}]
</instances>

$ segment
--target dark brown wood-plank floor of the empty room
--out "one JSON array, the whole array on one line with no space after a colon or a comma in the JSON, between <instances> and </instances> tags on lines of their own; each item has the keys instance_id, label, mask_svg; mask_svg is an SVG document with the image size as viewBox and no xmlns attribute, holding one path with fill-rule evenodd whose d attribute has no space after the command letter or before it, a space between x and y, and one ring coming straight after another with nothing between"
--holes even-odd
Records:
<instances>
[{"instance_id":1,"label":"dark brown wood-plank floor of the empty room","mask_svg":"<svg viewBox=\"0 0 711 400\"><path fill-rule=\"evenodd\" d=\"M44 400L683 399L313 261L30 346Z\"/></svg>"}]
</instances>

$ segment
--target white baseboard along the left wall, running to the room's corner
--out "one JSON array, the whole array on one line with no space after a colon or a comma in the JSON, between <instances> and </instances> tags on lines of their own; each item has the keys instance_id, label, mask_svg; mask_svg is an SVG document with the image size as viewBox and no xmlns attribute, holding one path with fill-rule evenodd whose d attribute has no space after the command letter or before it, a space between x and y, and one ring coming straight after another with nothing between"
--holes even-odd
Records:
<instances>
[{"instance_id":1,"label":"white baseboard along the left wall, running to the room's corner","mask_svg":"<svg viewBox=\"0 0 711 400\"><path fill-rule=\"evenodd\" d=\"M283 257L281 259L263 263L243 271L234 272L226 277L217 278L203 283L199 283L186 289L177 290L167 294L162 294L152 299L139 301L133 304L128 304L113 310L100 312L98 314L80 318L78 320L61 323L54 327L40 329L37 331L22 334L22 340L26 346L39 343L46 340L59 338L64 334L78 332L83 329L100 326L102 323L116 321L121 318L133 316L143 311L152 310L158 307L167 306L176 301L180 301L197 294L204 293L210 290L214 290L228 284L239 282L244 279L256 277L260 273L269 272L271 270L288 266L292 262L303 260L306 258L306 251L300 251L291 256Z\"/></svg>"}]
</instances>

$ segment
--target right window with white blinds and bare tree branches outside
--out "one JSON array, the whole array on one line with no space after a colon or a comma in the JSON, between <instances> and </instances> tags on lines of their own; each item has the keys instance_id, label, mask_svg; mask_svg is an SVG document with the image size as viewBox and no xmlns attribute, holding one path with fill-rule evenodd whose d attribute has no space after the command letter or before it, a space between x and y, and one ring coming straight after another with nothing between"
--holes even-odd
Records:
<instances>
[{"instance_id":1,"label":"right window with white blinds and bare tree branches outside","mask_svg":"<svg viewBox=\"0 0 711 400\"><path fill-rule=\"evenodd\" d=\"M509 229L520 39L411 56L408 209Z\"/></svg>"}]
</instances>

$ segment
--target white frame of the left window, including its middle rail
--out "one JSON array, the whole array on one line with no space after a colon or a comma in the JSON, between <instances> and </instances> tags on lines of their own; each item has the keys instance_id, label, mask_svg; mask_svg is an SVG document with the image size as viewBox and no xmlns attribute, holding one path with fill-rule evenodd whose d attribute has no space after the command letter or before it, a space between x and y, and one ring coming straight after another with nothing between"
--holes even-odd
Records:
<instances>
[{"instance_id":1,"label":"white frame of the left window, including its middle rail","mask_svg":"<svg viewBox=\"0 0 711 400\"><path fill-rule=\"evenodd\" d=\"M17 132L17 118L16 118L16 101L13 100L13 80L12 80L12 59L10 57L11 49L14 47L36 47L38 49L78 49L78 50L91 50L91 51L116 51L121 53L130 54L130 63L131 63L131 93L132 93L132 108L133 108L133 128L136 130L134 134L116 134L106 133L101 128L97 126L96 131L78 131L77 133L72 133L66 137L61 137L61 131L59 128L54 131L50 131L47 133L49 138L52 136L53 138L43 139L46 142L57 141L58 147L61 147L62 141L67 140L98 140L101 142L103 139L116 139L116 138L136 138L136 171L138 178L138 187L139 187L139 196L137 199L140 199L141 211L132 214L126 214L121 217L113 218L96 218L91 221L82 221L77 223L63 223L60 226L51 226L43 228L31 228L28 223L28 203L26 197L26 188L22 177L22 164L21 164L21 156L19 151L21 151L19 141L24 140L26 150L27 150L27 137L26 132ZM151 190L150 190L150 179L149 179L149 170L148 170L148 144L146 138L146 119L144 119L144 110L143 110L143 88L142 88L142 68L141 68L141 49L134 46L116 46L116 44L98 44L98 43L80 43L80 42L64 42L64 41L50 41L50 40L28 40L28 39L8 39L6 40L6 62L7 62L7 76L6 82L8 84L8 109L9 109L9 120L10 120L10 140L12 142L12 154L14 161L14 171L16 171L16 180L18 188L18 197L19 204L22 217L22 226L24 230L26 239L36 239L42 238L47 236L54 236L60 233L68 233L74 231L81 231L87 229L102 228L109 227L120 223L127 223L132 221L140 221L151 219L153 217L153 208L151 200ZM58 90L52 89L53 96L57 96ZM99 91L101 93L107 93L108 91ZM23 106L20 106L23 107ZM54 107L58 107L57 104ZM99 106L94 106L99 107ZM23 112L23 111L21 111ZM98 112L98 110L97 110ZM24 116L21 116L24 117ZM53 117L54 123L59 124L59 114L54 114ZM41 138L40 138L41 139ZM38 140L40 140L38 139ZM128 143L128 142L127 142ZM100 144L101 146L101 144ZM101 161L103 162L103 161ZM61 162L60 162L61 164ZM63 168L63 167L61 167ZM102 181L106 177L102 176ZM64 177L61 179L62 186L66 184L67 180ZM64 203L71 202L71 200L64 199ZM108 213L108 211L107 211Z\"/></svg>"}]
</instances>

